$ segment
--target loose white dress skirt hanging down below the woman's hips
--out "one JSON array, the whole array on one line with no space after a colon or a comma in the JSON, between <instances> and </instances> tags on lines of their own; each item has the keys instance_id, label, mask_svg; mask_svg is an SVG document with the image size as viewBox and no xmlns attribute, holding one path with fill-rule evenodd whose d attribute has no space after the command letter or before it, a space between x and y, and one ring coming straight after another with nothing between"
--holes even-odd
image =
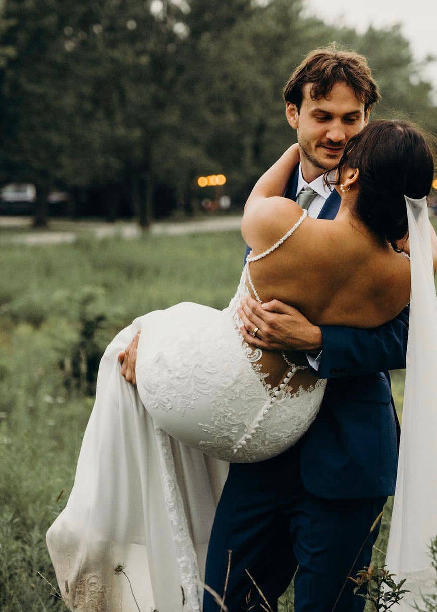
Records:
<instances>
[{"instance_id":1,"label":"loose white dress skirt hanging down below the woman's hips","mask_svg":"<svg viewBox=\"0 0 437 612\"><path fill-rule=\"evenodd\" d=\"M62 597L75 612L138 612L125 575L141 612L182 610L182 589L184 609L201 609L207 543L228 465L155 428L122 378L117 355L140 320L106 349L75 484L47 532Z\"/></svg>"}]
</instances>

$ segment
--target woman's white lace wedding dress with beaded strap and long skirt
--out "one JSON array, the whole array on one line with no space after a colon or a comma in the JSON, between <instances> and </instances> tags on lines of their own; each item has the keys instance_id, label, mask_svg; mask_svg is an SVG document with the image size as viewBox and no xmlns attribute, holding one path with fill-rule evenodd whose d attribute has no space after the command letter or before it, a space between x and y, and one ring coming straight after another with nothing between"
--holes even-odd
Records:
<instances>
[{"instance_id":1,"label":"woman's white lace wedding dress with beaded strap and long skirt","mask_svg":"<svg viewBox=\"0 0 437 612\"><path fill-rule=\"evenodd\" d=\"M242 340L236 313L247 284L258 298L248 263L278 248L306 215L248 258L225 310L185 302L152 312L106 349L73 490L47 532L70 610L176 612L184 601L185 611L200 612L227 462L288 449L323 399L326 379L308 383L308 368L289 362L277 387L266 384L262 352ZM135 388L117 356L138 330Z\"/></svg>"}]
</instances>

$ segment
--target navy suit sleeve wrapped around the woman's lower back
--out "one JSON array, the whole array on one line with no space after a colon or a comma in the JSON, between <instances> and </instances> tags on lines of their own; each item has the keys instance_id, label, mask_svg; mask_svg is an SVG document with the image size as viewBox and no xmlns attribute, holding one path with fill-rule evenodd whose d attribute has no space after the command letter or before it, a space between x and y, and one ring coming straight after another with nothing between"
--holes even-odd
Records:
<instances>
[{"instance_id":1,"label":"navy suit sleeve wrapped around the woman's lower back","mask_svg":"<svg viewBox=\"0 0 437 612\"><path fill-rule=\"evenodd\" d=\"M375 329L321 326L322 378L359 376L405 368L409 306L389 323Z\"/></svg>"}]
</instances>

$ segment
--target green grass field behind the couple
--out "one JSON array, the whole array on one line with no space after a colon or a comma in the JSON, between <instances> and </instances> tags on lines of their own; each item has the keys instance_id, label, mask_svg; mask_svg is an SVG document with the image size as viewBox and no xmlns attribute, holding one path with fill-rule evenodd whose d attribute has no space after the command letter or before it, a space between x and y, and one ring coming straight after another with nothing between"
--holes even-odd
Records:
<instances>
[{"instance_id":1,"label":"green grass field behind the couple","mask_svg":"<svg viewBox=\"0 0 437 612\"><path fill-rule=\"evenodd\" d=\"M72 487L108 341L136 316L176 302L225 307L243 253L238 232L0 245L2 612L65 610L39 575L56 584L45 531ZM394 394L400 406L402 372ZM381 550L386 533L387 519ZM293 610L287 598L282 610Z\"/></svg>"}]
</instances>

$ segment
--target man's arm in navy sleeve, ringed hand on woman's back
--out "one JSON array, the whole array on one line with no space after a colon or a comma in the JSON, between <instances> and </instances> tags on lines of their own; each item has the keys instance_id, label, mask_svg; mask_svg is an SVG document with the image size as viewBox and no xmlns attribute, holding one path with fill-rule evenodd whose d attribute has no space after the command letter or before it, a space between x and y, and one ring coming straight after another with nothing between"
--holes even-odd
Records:
<instances>
[{"instance_id":1,"label":"man's arm in navy sleeve, ringed hand on woman's back","mask_svg":"<svg viewBox=\"0 0 437 612\"><path fill-rule=\"evenodd\" d=\"M318 374L338 378L405 367L409 308L375 329L314 326L296 308L272 300L262 308L242 301L241 334L252 346L276 351L303 351L319 356ZM258 327L256 338L250 335Z\"/></svg>"}]
</instances>

